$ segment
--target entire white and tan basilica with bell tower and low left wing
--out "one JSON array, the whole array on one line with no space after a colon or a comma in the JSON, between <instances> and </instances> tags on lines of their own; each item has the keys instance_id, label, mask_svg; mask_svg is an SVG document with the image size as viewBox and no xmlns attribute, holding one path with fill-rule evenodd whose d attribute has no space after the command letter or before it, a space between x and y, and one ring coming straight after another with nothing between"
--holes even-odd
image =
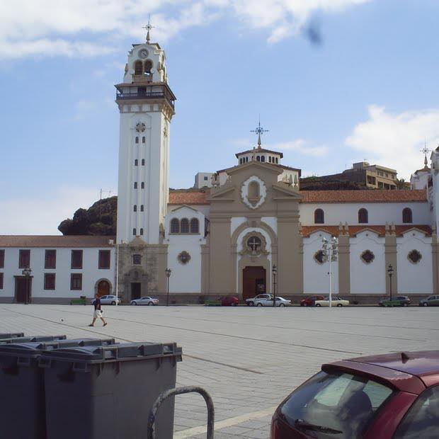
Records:
<instances>
[{"instance_id":1,"label":"entire white and tan basilica with bell tower and low left wing","mask_svg":"<svg viewBox=\"0 0 439 439\"><path fill-rule=\"evenodd\" d=\"M120 112L117 236L0 236L0 301L145 295L171 303L275 292L376 303L439 294L439 151L406 190L301 190L300 169L263 147L169 189L176 113L159 44L132 45ZM331 243L331 257L324 249ZM27 271L26 271L27 270Z\"/></svg>"}]
</instances>

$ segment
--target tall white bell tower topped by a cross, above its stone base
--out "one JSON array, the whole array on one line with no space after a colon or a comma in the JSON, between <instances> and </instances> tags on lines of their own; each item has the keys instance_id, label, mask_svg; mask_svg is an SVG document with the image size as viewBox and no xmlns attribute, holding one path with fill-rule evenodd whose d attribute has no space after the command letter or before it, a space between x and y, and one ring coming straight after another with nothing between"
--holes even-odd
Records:
<instances>
[{"instance_id":1,"label":"tall white bell tower topped by a cross, above its stone base","mask_svg":"<svg viewBox=\"0 0 439 439\"><path fill-rule=\"evenodd\" d=\"M176 97L168 85L166 55L158 43L133 44L123 81L116 84L120 112L118 244L133 239L160 244L169 200L169 136ZM141 241L140 241L140 240Z\"/></svg>"}]
</instances>

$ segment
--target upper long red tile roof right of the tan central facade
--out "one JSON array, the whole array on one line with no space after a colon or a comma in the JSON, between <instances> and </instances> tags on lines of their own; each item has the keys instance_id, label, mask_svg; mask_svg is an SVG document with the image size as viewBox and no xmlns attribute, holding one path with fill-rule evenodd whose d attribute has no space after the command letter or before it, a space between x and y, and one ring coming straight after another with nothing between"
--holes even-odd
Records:
<instances>
[{"instance_id":1,"label":"upper long red tile roof right of the tan central facade","mask_svg":"<svg viewBox=\"0 0 439 439\"><path fill-rule=\"evenodd\" d=\"M422 190L300 190L302 203L426 203Z\"/></svg>"}]
</instances>

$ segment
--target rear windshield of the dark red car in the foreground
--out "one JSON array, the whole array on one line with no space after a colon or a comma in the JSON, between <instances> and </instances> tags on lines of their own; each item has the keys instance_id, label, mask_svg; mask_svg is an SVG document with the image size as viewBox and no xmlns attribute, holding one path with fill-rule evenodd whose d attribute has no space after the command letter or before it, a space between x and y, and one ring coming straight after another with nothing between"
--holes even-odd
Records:
<instances>
[{"instance_id":1,"label":"rear windshield of the dark red car in the foreground","mask_svg":"<svg viewBox=\"0 0 439 439\"><path fill-rule=\"evenodd\" d=\"M315 438L358 438L392 393L389 387L367 377L319 372L292 392L280 412L299 431L309 431L312 424ZM316 426L321 431L316 431Z\"/></svg>"}]
</instances>

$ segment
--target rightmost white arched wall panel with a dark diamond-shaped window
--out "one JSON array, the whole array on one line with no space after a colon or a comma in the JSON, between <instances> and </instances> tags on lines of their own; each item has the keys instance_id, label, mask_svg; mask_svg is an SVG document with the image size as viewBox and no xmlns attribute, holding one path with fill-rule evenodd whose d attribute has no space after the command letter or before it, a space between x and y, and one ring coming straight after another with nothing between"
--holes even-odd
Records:
<instances>
[{"instance_id":1,"label":"rightmost white arched wall panel with a dark diamond-shaped window","mask_svg":"<svg viewBox=\"0 0 439 439\"><path fill-rule=\"evenodd\" d=\"M398 248L398 292L411 294L414 292L433 293L433 258L431 237L412 230L401 238L397 238ZM418 263L412 263L407 258L411 250L417 250L422 258Z\"/></svg>"}]
</instances>

